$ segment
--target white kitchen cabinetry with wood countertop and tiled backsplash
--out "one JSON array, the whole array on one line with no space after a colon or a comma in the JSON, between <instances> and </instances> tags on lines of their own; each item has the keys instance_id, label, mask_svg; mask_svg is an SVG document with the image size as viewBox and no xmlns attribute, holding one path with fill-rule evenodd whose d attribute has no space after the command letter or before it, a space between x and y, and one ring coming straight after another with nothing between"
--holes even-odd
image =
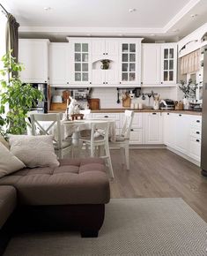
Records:
<instances>
[{"instance_id":1,"label":"white kitchen cabinetry with wood countertop and tiled backsplash","mask_svg":"<svg viewBox=\"0 0 207 256\"><path fill-rule=\"evenodd\" d=\"M177 43L104 37L67 37L67 42L19 39L19 61L26 65L21 79L49 85L48 111L65 111L63 94L71 94L81 109L92 109L91 117L115 118L118 134L124 109L134 109L132 148L167 147L200 166L206 31L204 24ZM195 72L181 74L181 58L195 50ZM192 79L196 88L190 105L183 105L181 79L185 85ZM195 106L198 111L193 111Z\"/></svg>"}]
</instances>

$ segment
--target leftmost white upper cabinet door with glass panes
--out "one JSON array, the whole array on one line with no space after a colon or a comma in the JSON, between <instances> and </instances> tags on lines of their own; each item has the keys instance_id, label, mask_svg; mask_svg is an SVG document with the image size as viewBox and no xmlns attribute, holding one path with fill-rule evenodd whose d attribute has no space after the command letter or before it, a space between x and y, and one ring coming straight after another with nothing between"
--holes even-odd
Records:
<instances>
[{"instance_id":1,"label":"leftmost white upper cabinet door with glass panes","mask_svg":"<svg viewBox=\"0 0 207 256\"><path fill-rule=\"evenodd\" d=\"M91 43L70 39L70 84L91 84Z\"/></svg>"}]
</instances>

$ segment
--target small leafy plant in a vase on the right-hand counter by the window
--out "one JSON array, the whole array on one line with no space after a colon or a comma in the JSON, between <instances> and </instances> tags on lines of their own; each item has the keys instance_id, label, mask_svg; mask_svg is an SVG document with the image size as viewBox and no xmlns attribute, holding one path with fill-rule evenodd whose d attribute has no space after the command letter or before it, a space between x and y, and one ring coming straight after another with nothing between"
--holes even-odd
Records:
<instances>
[{"instance_id":1,"label":"small leafy plant in a vase on the right-hand counter by the window","mask_svg":"<svg viewBox=\"0 0 207 256\"><path fill-rule=\"evenodd\" d=\"M189 82L186 84L184 80L181 80L181 85L179 86L181 91L184 94L183 98L183 105L184 109L189 109L189 100L195 100L196 99L196 88L197 84L196 82L193 83L192 79L189 79Z\"/></svg>"}]
</instances>

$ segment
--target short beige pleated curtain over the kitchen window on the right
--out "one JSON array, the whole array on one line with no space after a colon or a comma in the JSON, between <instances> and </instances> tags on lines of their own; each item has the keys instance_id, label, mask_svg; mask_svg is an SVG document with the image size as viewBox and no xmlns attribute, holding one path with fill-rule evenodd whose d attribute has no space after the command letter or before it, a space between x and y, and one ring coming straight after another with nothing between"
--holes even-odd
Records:
<instances>
[{"instance_id":1,"label":"short beige pleated curtain over the kitchen window on the right","mask_svg":"<svg viewBox=\"0 0 207 256\"><path fill-rule=\"evenodd\" d=\"M200 69L200 49L181 57L181 74L194 73Z\"/></svg>"}]
</instances>

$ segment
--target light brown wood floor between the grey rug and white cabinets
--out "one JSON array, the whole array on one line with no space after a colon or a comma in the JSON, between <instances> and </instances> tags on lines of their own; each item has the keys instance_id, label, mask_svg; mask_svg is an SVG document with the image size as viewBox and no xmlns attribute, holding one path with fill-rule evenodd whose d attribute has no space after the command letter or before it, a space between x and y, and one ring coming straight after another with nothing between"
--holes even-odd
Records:
<instances>
[{"instance_id":1,"label":"light brown wood floor between the grey rug and white cabinets","mask_svg":"<svg viewBox=\"0 0 207 256\"><path fill-rule=\"evenodd\" d=\"M207 222L207 178L167 149L130 149L130 170L120 150L111 150L115 180L111 198L182 198Z\"/></svg>"}]
</instances>

